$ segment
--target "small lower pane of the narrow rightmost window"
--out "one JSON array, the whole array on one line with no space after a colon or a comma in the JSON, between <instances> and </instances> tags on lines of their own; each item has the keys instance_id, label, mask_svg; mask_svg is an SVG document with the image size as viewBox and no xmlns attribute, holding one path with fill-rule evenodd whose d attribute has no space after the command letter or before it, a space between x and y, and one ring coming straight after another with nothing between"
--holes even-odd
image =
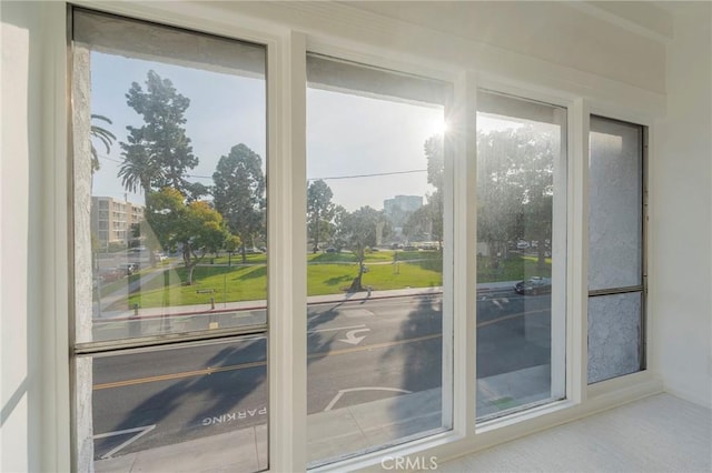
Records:
<instances>
[{"instance_id":1,"label":"small lower pane of the narrow rightmost window","mask_svg":"<svg viewBox=\"0 0 712 473\"><path fill-rule=\"evenodd\" d=\"M641 370L642 292L589 298L589 383Z\"/></svg>"}]
</instances>

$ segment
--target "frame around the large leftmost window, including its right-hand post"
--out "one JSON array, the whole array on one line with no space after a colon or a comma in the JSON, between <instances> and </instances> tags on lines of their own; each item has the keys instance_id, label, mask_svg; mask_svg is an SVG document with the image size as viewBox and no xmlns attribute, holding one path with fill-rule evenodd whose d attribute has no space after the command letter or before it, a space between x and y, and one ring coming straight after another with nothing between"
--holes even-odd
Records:
<instances>
[{"instance_id":1,"label":"frame around the large leftmost window, including its right-hand post","mask_svg":"<svg viewBox=\"0 0 712 473\"><path fill-rule=\"evenodd\" d=\"M304 232L298 230L299 222L293 222L288 217L290 214L299 214L298 210L304 207L306 212L306 204L300 205L301 200L306 202L306 190L304 190L304 199L299 199L298 194L301 188L301 183L306 179L306 170L304 165L298 165L299 161L304 162L305 145L303 143L305 118L300 118L299 111L304 113L305 107L294 107L299 103L300 94L298 84L305 83L305 80L299 81L299 61L296 58L304 57L305 40L304 36L299 33L293 33L285 38L281 34L277 34L274 26L265 26L260 22L247 22L245 26L238 28L237 32L234 28L230 28L224 22L214 22L207 28L198 27L195 24L195 19L188 19L185 16L166 14L166 11L155 10L151 8L136 8L135 6L111 6L106 8L106 4L96 4L95 2L81 2L89 3L77 4L77 8L87 9L89 11L103 12L107 14L113 14L118 17L125 17L129 19L137 19L144 22L154 22L156 24L166 26L169 28L177 28L186 31L195 31L198 33L206 33L211 36L218 36L227 39L234 39L240 42L250 42L255 44L261 44L266 50L266 97L267 97L267 152L269 157L267 159L267 174L269 180L274 184L267 184L267 199L274 203L273 209L267 215L267 225L271 231L268 232L268 249L270 256L268 259L268 273L274 276L268 279L267 289L267 305L270 308L270 312L274 313L268 320L268 333L269 343L267 350L267 358L270 360L270 366L268 369L268 425L269 425L269 467L271 471L297 471L304 470L306 466L306 460L301 459L305 449L299 449L296 445L295 439L305 439L303 421L306 419L306 412L301 413L299 410L300 400L306 401L306 366L304 370L299 369L298 363L294 363L293 360L298 360L298 354L304 352L306 354L306 328L304 333L304 342L299 342L298 336L294 336L294 330L291 325L295 320L299 318L299 311L295 311L294 308L298 306L299 298L306 296L306 286L304 291L300 291L299 285L303 278L295 278L298 273L299 264L291 265L293 278L286 278L286 271L284 266L279 264L279 261L295 261L293 254L297 248L305 248L304 244L299 245L304 239ZM63 56L67 58L65 70L62 76L66 79L67 92L66 103L63 108L68 111L66 121L62 121L65 125L67 143L66 147L66 172L63 173L66 183L60 182L60 189L67 189L68 205L62 210L61 215L66 222L66 245L58 245L57 253L61 255L62 263L60 268L68 269L68 278L65 290L67 291L67 310L63 312L62 320L66 321L67 336L63 338L65 343L69 344L69 376L66 378L68 385L68 403L70 406L70 416L67 425L69 426L70 435L70 461L69 464L72 469L79 469L80 466L80 452L77 445L77 416L79 410L78 393L76 391L77 383L77 353L75 352L75 328L72 315L75 313L75 258L73 258L73 195L75 195L75 175L72 159L72 135L71 135L71 14L73 4L61 4L65 18L62 22L66 22L63 37L66 42L62 43L65 49ZM59 11L59 9L58 9ZM164 13L164 14L161 14ZM301 61L304 62L304 61ZM304 70L304 66L301 67ZM290 71L289 74L285 74L284 71ZM271 73L270 71L281 71L283 73ZM303 74L306 78L306 74ZM305 95L305 93L301 93ZM286 103L291 107L285 105ZM301 97L301 103L304 103L304 97ZM301 155L301 160L298 157ZM296 164L295 164L296 161ZM299 179L304 175L303 179ZM303 213L304 213L303 212ZM306 227L305 227L306 229ZM306 230L305 230L306 231ZM306 269L305 269L306 271ZM280 294L278 296L278 294ZM289 303L289 301L297 301ZM291 318L278 316L279 313L291 313ZM303 319L306 326L306 310L304 311ZM298 326L298 324L294 324ZM288 328L288 329L287 329ZM199 335L198 335L199 336ZM184 338L181 340L187 340ZM130 343L132 344L132 343ZM92 344L93 345L93 344ZM97 344L100 349L100 344ZM93 349L87 348L82 350L82 353L92 352ZM277 361L278 360L278 361ZM298 373L305 374L299 376ZM301 395L299 395L303 393ZM306 402L305 402L306 403ZM291 419L290 419L291 417ZM276 421L279 419L279 421ZM286 422L285 422L286 421ZM281 453L278 453L281 452ZM290 452L293 454L285 454Z\"/></svg>"}]
</instances>

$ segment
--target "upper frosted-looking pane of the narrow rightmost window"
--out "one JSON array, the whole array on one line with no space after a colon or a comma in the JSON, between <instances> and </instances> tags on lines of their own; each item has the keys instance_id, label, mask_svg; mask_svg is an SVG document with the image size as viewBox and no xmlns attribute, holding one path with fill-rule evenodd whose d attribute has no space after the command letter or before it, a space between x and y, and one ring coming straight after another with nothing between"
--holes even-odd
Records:
<instances>
[{"instance_id":1,"label":"upper frosted-looking pane of the narrow rightmost window","mask_svg":"<svg viewBox=\"0 0 712 473\"><path fill-rule=\"evenodd\" d=\"M642 129L591 117L589 289L642 284Z\"/></svg>"}]
</instances>

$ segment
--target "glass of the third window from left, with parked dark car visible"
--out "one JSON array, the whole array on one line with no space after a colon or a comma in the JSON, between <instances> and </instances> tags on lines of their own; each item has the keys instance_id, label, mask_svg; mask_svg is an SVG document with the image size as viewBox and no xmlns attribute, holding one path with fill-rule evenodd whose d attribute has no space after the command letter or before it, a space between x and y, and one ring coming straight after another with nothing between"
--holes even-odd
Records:
<instances>
[{"instance_id":1,"label":"glass of the third window from left, with parked dark car visible","mask_svg":"<svg viewBox=\"0 0 712 473\"><path fill-rule=\"evenodd\" d=\"M478 419L564 395L564 109L477 94Z\"/></svg>"}]
</instances>

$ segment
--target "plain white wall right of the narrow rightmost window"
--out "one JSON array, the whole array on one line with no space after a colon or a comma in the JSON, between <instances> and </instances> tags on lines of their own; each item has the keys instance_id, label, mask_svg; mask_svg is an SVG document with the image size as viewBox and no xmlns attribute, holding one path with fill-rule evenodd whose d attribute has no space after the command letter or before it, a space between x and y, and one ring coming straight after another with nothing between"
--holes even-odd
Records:
<instances>
[{"instance_id":1,"label":"plain white wall right of the narrow rightmost window","mask_svg":"<svg viewBox=\"0 0 712 473\"><path fill-rule=\"evenodd\" d=\"M712 406L711 3L675 18L668 117L651 160L652 361L665 389Z\"/></svg>"}]
</instances>

